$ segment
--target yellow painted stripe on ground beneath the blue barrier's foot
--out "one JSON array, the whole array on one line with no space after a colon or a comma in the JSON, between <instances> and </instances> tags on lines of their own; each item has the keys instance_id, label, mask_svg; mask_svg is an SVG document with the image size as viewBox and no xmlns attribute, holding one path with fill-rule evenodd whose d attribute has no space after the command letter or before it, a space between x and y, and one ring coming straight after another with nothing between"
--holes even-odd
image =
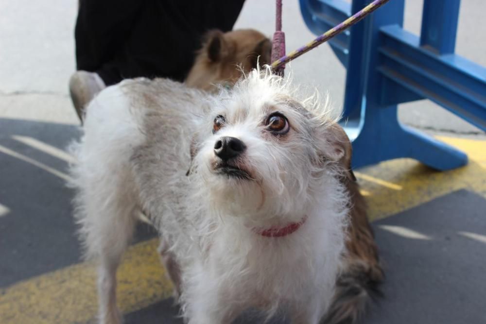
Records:
<instances>
[{"instance_id":1,"label":"yellow painted stripe on ground beneath the blue barrier's foot","mask_svg":"<svg viewBox=\"0 0 486 324\"><path fill-rule=\"evenodd\" d=\"M429 202L459 189L474 191L486 197L486 141L438 136L438 139L468 154L469 164L451 171L434 171L412 159L385 161L361 168L368 179L381 179L401 190L383 183L358 178L365 190L371 220L384 218ZM398 187L397 187L398 188Z\"/></svg>"}]
</instances>

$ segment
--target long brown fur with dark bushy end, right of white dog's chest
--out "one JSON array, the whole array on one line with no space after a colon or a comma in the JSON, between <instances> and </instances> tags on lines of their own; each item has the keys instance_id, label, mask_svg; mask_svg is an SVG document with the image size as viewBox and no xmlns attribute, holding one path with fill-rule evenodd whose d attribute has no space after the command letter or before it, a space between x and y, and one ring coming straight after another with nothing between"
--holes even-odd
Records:
<instances>
[{"instance_id":1,"label":"long brown fur with dark bushy end, right of white dog's chest","mask_svg":"<svg viewBox=\"0 0 486 324\"><path fill-rule=\"evenodd\" d=\"M351 169L351 142L338 124L332 125L330 130L330 141L336 156L341 156L338 161L343 170L341 182L350 197L350 222L344 269L337 279L332 305L321 323L353 324L363 315L370 297L380 295L378 286L383 281L383 270L373 230L368 222L366 202Z\"/></svg>"}]
</instances>

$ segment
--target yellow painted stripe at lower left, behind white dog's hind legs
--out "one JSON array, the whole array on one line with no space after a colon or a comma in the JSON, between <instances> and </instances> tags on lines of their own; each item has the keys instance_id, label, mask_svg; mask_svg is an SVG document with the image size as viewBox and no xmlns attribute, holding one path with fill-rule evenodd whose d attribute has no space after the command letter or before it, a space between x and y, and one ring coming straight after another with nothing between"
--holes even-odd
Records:
<instances>
[{"instance_id":1,"label":"yellow painted stripe at lower left, behind white dog's hind legs","mask_svg":"<svg viewBox=\"0 0 486 324\"><path fill-rule=\"evenodd\" d=\"M152 239L130 247L118 271L118 305L132 312L168 298L165 276ZM81 263L0 290L1 324L86 323L97 313L95 266Z\"/></svg>"}]
</instances>

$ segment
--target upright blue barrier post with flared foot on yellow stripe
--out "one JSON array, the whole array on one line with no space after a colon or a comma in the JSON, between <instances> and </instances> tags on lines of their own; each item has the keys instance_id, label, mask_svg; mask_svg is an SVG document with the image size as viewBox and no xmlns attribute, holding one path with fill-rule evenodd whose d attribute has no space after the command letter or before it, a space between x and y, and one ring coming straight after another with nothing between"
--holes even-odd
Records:
<instances>
[{"instance_id":1,"label":"upright blue barrier post with flared foot on yellow stripe","mask_svg":"<svg viewBox=\"0 0 486 324\"><path fill-rule=\"evenodd\" d=\"M354 0L353 6L363 6L367 0ZM403 0L388 2L373 17L364 19L360 37L351 34L347 83L360 75L361 93L360 125L347 126L351 134L358 133L353 141L353 167L378 163L383 160L411 157L439 170L453 169L467 163L466 154L459 152L429 136L400 124L397 105L383 105L383 76L378 70L382 64L379 48L382 45L380 30L383 26L403 24ZM361 37L361 35L363 35ZM353 44L353 41L360 43ZM355 46L353 48L352 46ZM351 63L356 70L351 70ZM357 73L356 71L363 71ZM348 90L348 89L347 89ZM359 100L358 98L356 100Z\"/></svg>"}]
</instances>

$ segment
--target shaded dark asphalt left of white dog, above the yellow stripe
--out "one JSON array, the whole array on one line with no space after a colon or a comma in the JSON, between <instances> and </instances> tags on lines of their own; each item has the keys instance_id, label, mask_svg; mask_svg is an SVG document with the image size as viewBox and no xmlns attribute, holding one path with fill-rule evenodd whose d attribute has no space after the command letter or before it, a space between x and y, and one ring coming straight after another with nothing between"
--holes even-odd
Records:
<instances>
[{"instance_id":1,"label":"shaded dark asphalt left of white dog, above the yellow stripe","mask_svg":"<svg viewBox=\"0 0 486 324\"><path fill-rule=\"evenodd\" d=\"M64 151L74 125L0 119L0 287L80 262ZM152 237L140 226L137 240Z\"/></svg>"}]
</instances>

